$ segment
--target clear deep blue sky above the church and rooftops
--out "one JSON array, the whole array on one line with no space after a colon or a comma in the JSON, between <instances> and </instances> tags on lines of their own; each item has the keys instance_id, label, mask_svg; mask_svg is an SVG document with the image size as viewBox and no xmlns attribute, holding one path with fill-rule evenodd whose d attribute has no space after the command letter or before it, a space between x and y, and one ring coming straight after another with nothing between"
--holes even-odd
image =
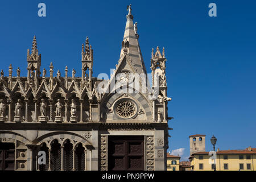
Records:
<instances>
[{"instance_id":1,"label":"clear deep blue sky above the church and rooftops","mask_svg":"<svg viewBox=\"0 0 256 182\"><path fill-rule=\"evenodd\" d=\"M38 4L46 3L46 17ZM217 17L208 5L217 5ZM36 35L42 69L54 75L65 65L81 75L81 44L94 49L93 76L110 73L119 59L132 4L139 43L150 72L152 47L167 57L169 150L185 148L188 136L214 134L221 150L256 147L256 1L3 1L0 4L0 61L26 76L27 48ZM47 73L49 75L49 72ZM15 75L15 73L14 73Z\"/></svg>"}]
</instances>

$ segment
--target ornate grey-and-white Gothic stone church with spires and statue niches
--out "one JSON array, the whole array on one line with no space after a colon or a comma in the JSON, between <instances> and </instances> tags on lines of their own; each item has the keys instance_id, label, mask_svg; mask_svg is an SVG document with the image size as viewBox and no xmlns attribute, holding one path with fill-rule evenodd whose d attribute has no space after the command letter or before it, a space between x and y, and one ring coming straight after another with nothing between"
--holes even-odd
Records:
<instances>
[{"instance_id":1,"label":"ornate grey-and-white Gothic stone church with spires and statue niches","mask_svg":"<svg viewBox=\"0 0 256 182\"><path fill-rule=\"evenodd\" d=\"M75 69L68 77L67 67L64 76L58 70L53 77L52 63L49 73L41 69L36 37L27 51L26 77L19 68L14 76L11 64L8 76L1 71L0 170L166 170L171 119L167 59L164 49L152 49L150 86L137 23L130 6L128 10L121 55L110 80L93 77L88 38L82 44L81 77ZM46 154L45 164L38 163L39 151Z\"/></svg>"}]
</instances>

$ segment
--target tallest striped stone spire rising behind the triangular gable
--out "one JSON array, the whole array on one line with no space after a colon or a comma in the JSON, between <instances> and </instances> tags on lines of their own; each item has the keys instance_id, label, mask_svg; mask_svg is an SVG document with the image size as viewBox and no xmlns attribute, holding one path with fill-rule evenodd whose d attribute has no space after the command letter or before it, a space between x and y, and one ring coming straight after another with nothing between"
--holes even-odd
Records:
<instances>
[{"instance_id":1,"label":"tallest striped stone spire rising behind the triangular gable","mask_svg":"<svg viewBox=\"0 0 256 182\"><path fill-rule=\"evenodd\" d=\"M123 55L128 54L133 62L135 71L137 71L139 74L146 74L147 71L144 65L141 48L139 47L138 42L139 36L137 34L137 23L133 23L131 5L127 6L127 11L128 15L126 15L125 34L123 35L120 59L122 59Z\"/></svg>"}]
</instances>

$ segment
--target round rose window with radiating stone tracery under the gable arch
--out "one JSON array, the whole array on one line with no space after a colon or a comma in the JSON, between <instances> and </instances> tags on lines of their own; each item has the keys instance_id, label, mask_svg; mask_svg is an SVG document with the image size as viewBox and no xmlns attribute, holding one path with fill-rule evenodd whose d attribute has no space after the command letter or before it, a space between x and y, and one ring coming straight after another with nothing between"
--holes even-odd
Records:
<instances>
[{"instance_id":1,"label":"round rose window with radiating stone tracery under the gable arch","mask_svg":"<svg viewBox=\"0 0 256 182\"><path fill-rule=\"evenodd\" d=\"M137 105L131 100L121 100L115 104L115 114L123 119L129 119L137 114Z\"/></svg>"}]
</instances>

